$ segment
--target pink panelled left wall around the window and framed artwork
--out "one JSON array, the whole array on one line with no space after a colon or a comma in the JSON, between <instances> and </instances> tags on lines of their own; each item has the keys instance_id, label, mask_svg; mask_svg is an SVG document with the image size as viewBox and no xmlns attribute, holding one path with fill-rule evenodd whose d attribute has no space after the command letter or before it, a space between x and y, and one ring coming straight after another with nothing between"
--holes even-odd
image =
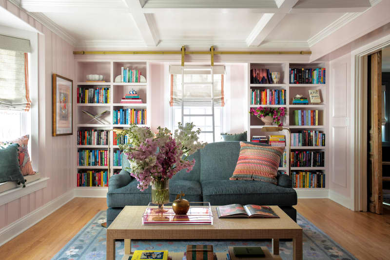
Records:
<instances>
[{"instance_id":1,"label":"pink panelled left wall around the window and framed artwork","mask_svg":"<svg viewBox=\"0 0 390 260\"><path fill-rule=\"evenodd\" d=\"M0 229L19 220L74 188L71 137L52 137L52 73L74 78L73 46L7 0L0 0L20 19L37 28L39 35L39 172L49 177L47 187L0 206Z\"/></svg>"}]
</instances>

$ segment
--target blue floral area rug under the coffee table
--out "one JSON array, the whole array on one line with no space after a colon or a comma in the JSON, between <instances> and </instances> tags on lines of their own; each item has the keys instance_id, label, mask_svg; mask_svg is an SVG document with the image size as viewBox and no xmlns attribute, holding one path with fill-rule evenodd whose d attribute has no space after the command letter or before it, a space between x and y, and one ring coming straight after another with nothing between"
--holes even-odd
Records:
<instances>
[{"instance_id":1,"label":"blue floral area rug under the coffee table","mask_svg":"<svg viewBox=\"0 0 390 260\"><path fill-rule=\"evenodd\" d=\"M78 234L70 240L53 260L104 260L106 259L106 212L100 211ZM355 260L355 258L315 227L309 220L297 214L297 222L303 228L303 259ZM187 244L212 244L215 252L226 252L228 246L267 246L271 240L132 240L132 250L168 250L184 252ZM280 241L282 259L292 259L292 242ZM123 240L116 242L116 259L124 254ZM222 259L224 260L224 259Z\"/></svg>"}]
</instances>

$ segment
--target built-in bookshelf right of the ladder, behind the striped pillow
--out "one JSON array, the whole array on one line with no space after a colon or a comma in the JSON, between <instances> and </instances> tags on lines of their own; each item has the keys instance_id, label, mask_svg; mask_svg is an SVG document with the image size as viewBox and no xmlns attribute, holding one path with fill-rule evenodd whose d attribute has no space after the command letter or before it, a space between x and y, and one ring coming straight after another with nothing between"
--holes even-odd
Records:
<instances>
[{"instance_id":1,"label":"built-in bookshelf right of the ladder, behind the striped pillow","mask_svg":"<svg viewBox=\"0 0 390 260\"><path fill-rule=\"evenodd\" d=\"M306 77L304 77L304 80L302 80L300 83L291 83L291 68L303 68L303 75L306 73ZM309 69L317 69L316 73L319 72L321 68L323 68L322 72L325 69L325 80L322 81L320 84L312 84L305 82L307 76L311 72ZM315 134L321 133L325 134L325 141L321 146L318 144L312 144L310 145L308 143L304 143L305 146L302 146L302 144L297 144L294 146L291 146L291 152L297 152L303 153L307 152L307 154L319 154L321 153L324 157L324 164L319 164L319 167L305 167L305 166L296 166L291 167L291 171L289 172L289 167L280 167L279 171L283 171L286 174L292 176L293 172L318 172L321 180L321 176L325 176L325 188L295 188L295 190L298 193L298 196L300 197L311 197L311 198L321 198L321 197L328 197L328 187L329 187L329 177L327 175L328 173L328 125L329 125L329 63L328 62L315 62L315 63L293 63L293 62L267 62L267 63L261 63L261 62L252 62L248 63L248 111L251 108L256 108L258 106L262 107L284 107L286 108L287 115L283 119L283 127L289 128L292 134L296 134L299 132L302 132L304 130L310 130L314 132ZM253 69L258 69L262 71L266 71L269 69L270 72L279 72L280 73L280 79L275 84L270 84L267 80L266 84L257 84L257 83L251 83L254 82L254 80L251 80L251 77L254 76ZM294 71L295 73L296 71ZM261 72L260 72L261 73ZM328 74L326 74L328 73ZM265 73L265 77L267 78L267 75ZM310 81L310 80L308 80ZM309 90L319 90L319 94L321 97L321 103L311 103L310 96L309 96ZM267 92L268 90L268 92ZM277 90L277 91L273 91ZM258 105L254 104L254 93L283 93L283 98L286 100L285 102L280 102L281 99L279 99L279 103L284 104L264 104L264 105ZM297 95L303 95L305 98L309 100L308 104L293 104L293 98ZM272 96L272 95L271 95ZM261 96L262 97L262 96ZM272 96L273 97L273 96ZM278 97L278 96L277 96ZM260 99L261 100L261 99ZM259 103L259 102L257 102ZM261 102L260 102L261 103ZM262 102L264 103L264 102ZM270 102L269 102L270 103ZM311 115L308 110L317 110L317 121L318 124L315 125L297 125L295 123L294 114L298 112L294 111L300 111L300 115ZM314 112L315 114L315 112ZM291 163L291 155L288 153L288 147L291 142L291 136L289 136L288 131L284 130L282 132L264 132L262 131L262 128L264 127L264 123L258 119L257 117L250 115L248 113L248 141L252 140L253 136L270 136L270 135L285 135L286 139L286 151L287 151L287 162ZM318 166L318 165L317 165ZM322 178L323 178L322 176Z\"/></svg>"}]
</instances>

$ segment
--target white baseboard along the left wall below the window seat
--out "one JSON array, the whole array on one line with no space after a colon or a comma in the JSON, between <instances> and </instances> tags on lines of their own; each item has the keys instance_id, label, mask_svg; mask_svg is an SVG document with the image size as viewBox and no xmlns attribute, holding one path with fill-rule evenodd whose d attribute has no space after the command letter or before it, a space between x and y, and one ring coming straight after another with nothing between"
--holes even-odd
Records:
<instances>
[{"instance_id":1,"label":"white baseboard along the left wall below the window seat","mask_svg":"<svg viewBox=\"0 0 390 260\"><path fill-rule=\"evenodd\" d=\"M21 219L16 220L12 224L0 229L0 246L8 242L9 240L15 238L28 228L38 223L40 220L43 220L44 218L52 214L62 205L72 200L75 197L74 194L74 190L72 189L62 194L58 198L44 204L40 208L30 212Z\"/></svg>"}]
</instances>

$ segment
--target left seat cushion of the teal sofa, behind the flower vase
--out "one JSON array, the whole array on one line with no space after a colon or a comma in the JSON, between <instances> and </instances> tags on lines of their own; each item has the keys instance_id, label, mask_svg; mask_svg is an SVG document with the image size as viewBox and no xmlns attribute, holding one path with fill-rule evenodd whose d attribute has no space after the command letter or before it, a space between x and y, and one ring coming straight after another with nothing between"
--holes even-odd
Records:
<instances>
[{"instance_id":1,"label":"left seat cushion of the teal sofa, behind the flower vase","mask_svg":"<svg viewBox=\"0 0 390 260\"><path fill-rule=\"evenodd\" d=\"M107 193L109 207L124 207L128 205L147 205L151 202L151 187L145 191L137 189L138 181L133 179L129 184ZM202 188L200 183L192 180L170 180L169 200L174 201L176 195L183 192L189 201L202 201Z\"/></svg>"}]
</instances>

